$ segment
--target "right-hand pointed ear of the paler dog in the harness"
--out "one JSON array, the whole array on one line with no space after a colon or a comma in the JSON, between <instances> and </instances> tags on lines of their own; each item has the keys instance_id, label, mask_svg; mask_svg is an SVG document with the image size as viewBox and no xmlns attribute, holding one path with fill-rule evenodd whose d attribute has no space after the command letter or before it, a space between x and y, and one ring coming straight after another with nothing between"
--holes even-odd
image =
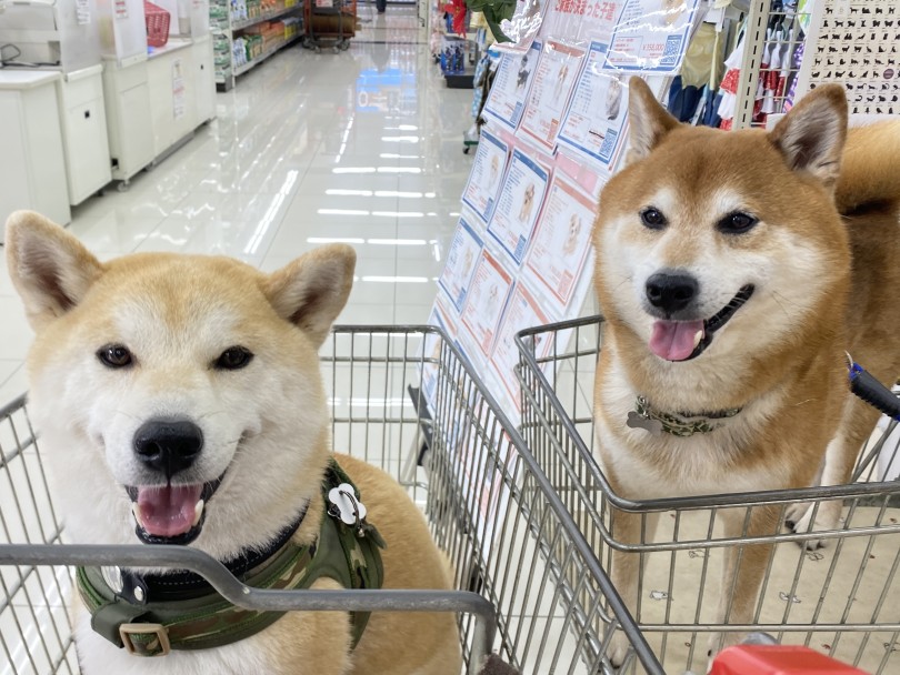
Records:
<instances>
[{"instance_id":1,"label":"right-hand pointed ear of the paler dog in the harness","mask_svg":"<svg viewBox=\"0 0 900 675\"><path fill-rule=\"evenodd\" d=\"M276 311L320 346L347 304L357 254L344 244L310 251L269 276L263 292Z\"/></svg>"}]
</instances>

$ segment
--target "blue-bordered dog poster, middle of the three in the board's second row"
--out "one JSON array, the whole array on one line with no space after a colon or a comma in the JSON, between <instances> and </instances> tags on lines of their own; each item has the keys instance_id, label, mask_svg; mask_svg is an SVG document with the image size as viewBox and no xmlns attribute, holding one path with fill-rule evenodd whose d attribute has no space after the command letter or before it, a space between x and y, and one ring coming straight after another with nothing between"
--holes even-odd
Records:
<instances>
[{"instance_id":1,"label":"blue-bordered dog poster, middle of the three in the board's second row","mask_svg":"<svg viewBox=\"0 0 900 675\"><path fill-rule=\"evenodd\" d=\"M548 172L521 150L512 151L512 161L507 171L507 180L500 191L500 199L493 210L488 233L522 264L534 222L547 192Z\"/></svg>"}]
</instances>

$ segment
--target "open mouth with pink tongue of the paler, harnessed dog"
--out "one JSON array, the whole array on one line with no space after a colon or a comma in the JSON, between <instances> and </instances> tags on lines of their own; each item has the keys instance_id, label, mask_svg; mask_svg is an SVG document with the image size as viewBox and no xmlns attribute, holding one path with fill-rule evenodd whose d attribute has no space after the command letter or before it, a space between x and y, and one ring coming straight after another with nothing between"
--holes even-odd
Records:
<instances>
[{"instance_id":1,"label":"open mouth with pink tongue of the paler, harnessed dog","mask_svg":"<svg viewBox=\"0 0 900 675\"><path fill-rule=\"evenodd\" d=\"M138 538L144 544L190 544L200 535L206 506L223 477L196 485L126 487Z\"/></svg>"}]
</instances>

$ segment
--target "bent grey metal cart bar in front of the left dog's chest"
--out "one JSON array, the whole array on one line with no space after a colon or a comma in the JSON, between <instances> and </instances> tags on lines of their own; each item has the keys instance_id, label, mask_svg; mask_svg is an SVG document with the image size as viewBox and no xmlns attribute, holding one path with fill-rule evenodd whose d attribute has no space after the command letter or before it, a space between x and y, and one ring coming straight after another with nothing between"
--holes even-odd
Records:
<instances>
[{"instance_id":1,"label":"bent grey metal cart bar in front of the left dog's chest","mask_svg":"<svg viewBox=\"0 0 900 675\"><path fill-rule=\"evenodd\" d=\"M189 570L206 578L227 601L244 609L269 612L461 612L474 616L469 673L481 669L497 633L493 605L470 591L347 590L271 591L247 586L216 558L196 548L87 544L0 544L0 565L113 565Z\"/></svg>"}]
</instances>

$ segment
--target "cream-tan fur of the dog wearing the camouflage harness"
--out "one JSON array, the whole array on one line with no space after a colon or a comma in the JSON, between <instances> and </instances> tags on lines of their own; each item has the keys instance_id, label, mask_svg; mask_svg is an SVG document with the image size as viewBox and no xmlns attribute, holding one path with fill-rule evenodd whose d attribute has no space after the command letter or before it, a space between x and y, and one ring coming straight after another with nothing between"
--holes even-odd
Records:
<instances>
[{"instance_id":1,"label":"cream-tan fur of the dog wearing the camouflage harness","mask_svg":"<svg viewBox=\"0 0 900 675\"><path fill-rule=\"evenodd\" d=\"M192 547L229 560L264 546L307 503L296 538L316 537L331 454L317 352L350 292L352 249L326 246L271 275L201 255L101 263L61 228L19 212L8 223L7 255L37 333L29 405L70 541L139 543L123 486L141 484L132 482L141 469L132 437L153 416L201 425L202 455L190 469L200 477L192 482L224 476ZM102 365L96 353L108 344L126 345L132 365ZM219 355L234 345L253 360L217 370ZM388 542L384 586L450 588L444 558L406 492L368 464L340 462ZM334 586L321 580L313 587ZM80 606L74 634L86 675L456 675L461 667L452 614L373 614L352 653L343 613L291 613L232 645L156 659L107 643Z\"/></svg>"}]
</instances>

